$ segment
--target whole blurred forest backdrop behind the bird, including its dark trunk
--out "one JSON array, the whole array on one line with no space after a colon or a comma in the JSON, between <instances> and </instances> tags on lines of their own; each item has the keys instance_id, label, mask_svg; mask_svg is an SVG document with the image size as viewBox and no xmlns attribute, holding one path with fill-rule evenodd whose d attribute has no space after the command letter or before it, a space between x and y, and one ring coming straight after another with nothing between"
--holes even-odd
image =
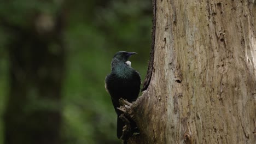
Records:
<instances>
[{"instance_id":1,"label":"whole blurred forest backdrop behind the bird, including its dark trunk","mask_svg":"<svg viewBox=\"0 0 256 144\"><path fill-rule=\"evenodd\" d=\"M114 53L124 50L138 53L130 61L144 80L151 3L1 0L0 144L17 143L9 139L20 139L19 143L120 143L104 78L110 73ZM38 78L41 67L40 75L50 75L45 76L49 80ZM25 75L20 81L15 78L19 71ZM55 114L60 114L59 120L52 122ZM47 136L50 128L41 128L46 121L59 135ZM40 138L27 140L31 137Z\"/></svg>"}]
</instances>

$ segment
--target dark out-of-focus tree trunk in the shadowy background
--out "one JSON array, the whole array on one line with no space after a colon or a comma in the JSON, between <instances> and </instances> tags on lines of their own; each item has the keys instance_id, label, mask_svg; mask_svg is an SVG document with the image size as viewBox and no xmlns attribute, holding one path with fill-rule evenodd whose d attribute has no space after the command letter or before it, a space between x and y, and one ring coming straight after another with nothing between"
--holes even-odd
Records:
<instances>
[{"instance_id":1,"label":"dark out-of-focus tree trunk in the shadowy background","mask_svg":"<svg viewBox=\"0 0 256 144\"><path fill-rule=\"evenodd\" d=\"M12 34L4 143L61 143L61 91L65 72L63 15L35 12L26 26L2 21Z\"/></svg>"}]
</instances>

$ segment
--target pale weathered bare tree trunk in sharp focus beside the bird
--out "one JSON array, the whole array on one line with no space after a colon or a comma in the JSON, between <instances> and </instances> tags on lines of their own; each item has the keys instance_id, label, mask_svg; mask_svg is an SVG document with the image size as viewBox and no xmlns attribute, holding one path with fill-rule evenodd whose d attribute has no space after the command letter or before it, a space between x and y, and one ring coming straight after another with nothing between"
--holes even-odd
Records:
<instances>
[{"instance_id":1,"label":"pale weathered bare tree trunk in sharp focus beside the bird","mask_svg":"<svg viewBox=\"0 0 256 144\"><path fill-rule=\"evenodd\" d=\"M141 133L129 143L256 143L253 2L154 0L148 79L127 110Z\"/></svg>"}]
</instances>

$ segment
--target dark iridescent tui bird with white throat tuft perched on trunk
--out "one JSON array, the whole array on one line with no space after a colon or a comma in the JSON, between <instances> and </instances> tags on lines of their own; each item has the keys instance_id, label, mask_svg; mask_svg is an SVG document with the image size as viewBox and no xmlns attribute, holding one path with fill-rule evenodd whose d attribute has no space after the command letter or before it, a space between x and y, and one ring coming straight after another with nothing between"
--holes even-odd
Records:
<instances>
[{"instance_id":1,"label":"dark iridescent tui bird with white throat tuft perched on trunk","mask_svg":"<svg viewBox=\"0 0 256 144\"><path fill-rule=\"evenodd\" d=\"M119 118L121 111L119 99L123 98L129 101L135 101L138 97L141 87L141 76L138 71L131 67L128 59L137 54L136 52L119 51L115 53L111 62L111 73L106 76L105 88L111 96L115 112L117 113L117 137L120 139L123 134L125 123Z\"/></svg>"}]
</instances>

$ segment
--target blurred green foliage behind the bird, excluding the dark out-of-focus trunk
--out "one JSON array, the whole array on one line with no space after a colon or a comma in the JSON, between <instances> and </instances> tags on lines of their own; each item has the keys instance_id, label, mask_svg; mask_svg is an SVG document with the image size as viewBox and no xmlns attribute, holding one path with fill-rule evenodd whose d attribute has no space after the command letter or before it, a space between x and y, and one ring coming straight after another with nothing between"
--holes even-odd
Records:
<instances>
[{"instance_id":1,"label":"blurred green foliage behind the bird, excluding the dark out-of-focus trunk","mask_svg":"<svg viewBox=\"0 0 256 144\"><path fill-rule=\"evenodd\" d=\"M146 75L152 27L151 1L13 0L0 5L0 19L26 26L30 10L53 13L65 7L66 79L63 87L63 143L120 143L116 120L104 78L115 52L137 52L132 67ZM0 23L0 114L8 91L8 55L5 42L14 37ZM0 144L3 143L0 123Z\"/></svg>"}]
</instances>

